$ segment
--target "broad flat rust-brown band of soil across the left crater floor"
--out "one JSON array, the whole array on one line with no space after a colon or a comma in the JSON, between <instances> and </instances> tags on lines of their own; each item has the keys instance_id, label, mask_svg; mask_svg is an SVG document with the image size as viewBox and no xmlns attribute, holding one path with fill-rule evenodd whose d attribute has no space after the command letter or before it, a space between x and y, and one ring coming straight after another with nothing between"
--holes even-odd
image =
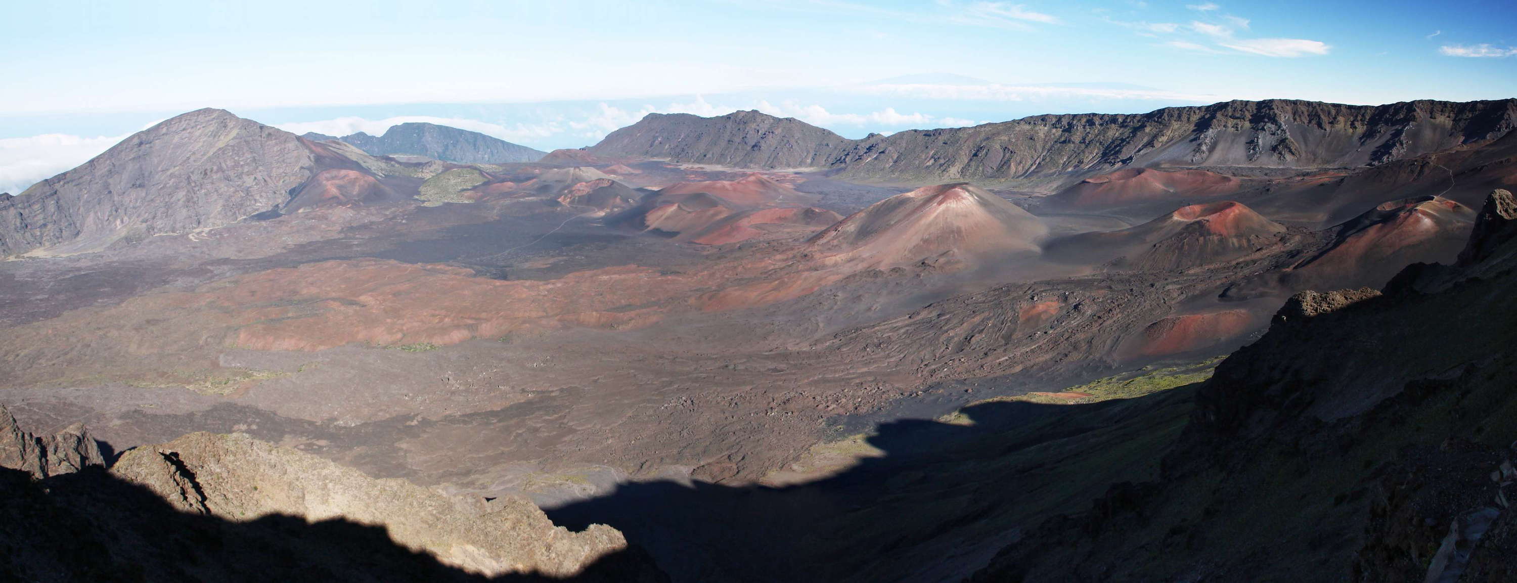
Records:
<instances>
[{"instance_id":1,"label":"broad flat rust-brown band of soil across the left crater floor","mask_svg":"<svg viewBox=\"0 0 1517 583\"><path fill-rule=\"evenodd\" d=\"M323 261L76 310L8 329L0 348L32 354L46 366L82 354L111 363L226 348L452 345L516 331L636 328L661 317L658 304L678 304L705 285L695 276L661 276L639 266L501 281L449 266Z\"/></svg>"}]
</instances>

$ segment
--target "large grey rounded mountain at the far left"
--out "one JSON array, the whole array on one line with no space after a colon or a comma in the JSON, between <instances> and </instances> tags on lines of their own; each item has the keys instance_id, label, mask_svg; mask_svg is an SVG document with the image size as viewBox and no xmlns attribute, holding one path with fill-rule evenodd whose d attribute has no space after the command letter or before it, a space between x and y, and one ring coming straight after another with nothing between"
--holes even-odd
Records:
<instances>
[{"instance_id":1,"label":"large grey rounded mountain at the far left","mask_svg":"<svg viewBox=\"0 0 1517 583\"><path fill-rule=\"evenodd\" d=\"M191 111L0 197L0 257L90 252L234 223L288 200L313 165L294 134L221 109Z\"/></svg>"}]
</instances>

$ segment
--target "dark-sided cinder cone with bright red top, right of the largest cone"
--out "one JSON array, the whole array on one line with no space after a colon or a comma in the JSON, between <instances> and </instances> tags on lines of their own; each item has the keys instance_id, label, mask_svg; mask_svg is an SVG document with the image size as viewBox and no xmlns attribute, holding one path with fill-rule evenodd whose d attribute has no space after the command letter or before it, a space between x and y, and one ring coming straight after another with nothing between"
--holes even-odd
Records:
<instances>
[{"instance_id":1,"label":"dark-sided cinder cone with bright red top, right of the largest cone","mask_svg":"<svg viewBox=\"0 0 1517 583\"><path fill-rule=\"evenodd\" d=\"M1270 246L1285 226L1233 202L1189 205L1147 223L1110 232L1083 232L1048 243L1048 257L1117 267L1185 269L1235 260Z\"/></svg>"}]
</instances>

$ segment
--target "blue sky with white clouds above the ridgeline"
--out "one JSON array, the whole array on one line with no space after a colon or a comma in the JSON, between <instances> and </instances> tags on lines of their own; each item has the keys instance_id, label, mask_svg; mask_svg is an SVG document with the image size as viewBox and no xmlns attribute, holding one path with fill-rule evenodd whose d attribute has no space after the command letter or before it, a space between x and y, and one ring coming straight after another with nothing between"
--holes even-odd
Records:
<instances>
[{"instance_id":1,"label":"blue sky with white clouds above the ridgeline","mask_svg":"<svg viewBox=\"0 0 1517 583\"><path fill-rule=\"evenodd\" d=\"M1230 99L1517 97L1508 2L0 0L0 191L214 106L551 150L648 112L845 137Z\"/></svg>"}]
</instances>

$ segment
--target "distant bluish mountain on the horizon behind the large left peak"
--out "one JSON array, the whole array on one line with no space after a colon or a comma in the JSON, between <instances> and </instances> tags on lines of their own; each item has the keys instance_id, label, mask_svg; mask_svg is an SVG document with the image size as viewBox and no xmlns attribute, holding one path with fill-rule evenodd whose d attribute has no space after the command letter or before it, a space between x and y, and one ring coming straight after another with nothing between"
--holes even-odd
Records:
<instances>
[{"instance_id":1,"label":"distant bluish mountain on the horizon behind the large left peak","mask_svg":"<svg viewBox=\"0 0 1517 583\"><path fill-rule=\"evenodd\" d=\"M375 156L426 156L458 164L536 162L548 155L479 132L417 121L390 126L379 137L358 132L338 138L311 132L303 138L346 141Z\"/></svg>"}]
</instances>

